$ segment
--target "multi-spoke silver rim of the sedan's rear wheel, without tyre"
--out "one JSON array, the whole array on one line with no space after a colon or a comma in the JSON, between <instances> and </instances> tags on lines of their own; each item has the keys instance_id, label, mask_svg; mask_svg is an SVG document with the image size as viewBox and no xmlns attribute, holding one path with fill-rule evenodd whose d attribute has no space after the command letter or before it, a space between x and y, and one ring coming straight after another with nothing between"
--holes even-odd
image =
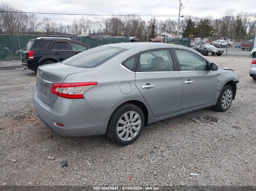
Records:
<instances>
[{"instance_id":1,"label":"multi-spoke silver rim of the sedan's rear wheel, without tyre","mask_svg":"<svg viewBox=\"0 0 256 191\"><path fill-rule=\"evenodd\" d=\"M117 123L116 132L123 141L135 138L141 128L141 117L135 111L128 111L121 116Z\"/></svg>"}]
</instances>

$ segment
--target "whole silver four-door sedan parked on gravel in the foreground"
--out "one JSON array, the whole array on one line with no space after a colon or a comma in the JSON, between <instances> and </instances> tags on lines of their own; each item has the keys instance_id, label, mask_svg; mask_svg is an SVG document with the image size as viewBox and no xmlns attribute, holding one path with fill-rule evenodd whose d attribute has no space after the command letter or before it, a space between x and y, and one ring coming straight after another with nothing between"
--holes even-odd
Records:
<instances>
[{"instance_id":1,"label":"whole silver four-door sedan parked on gravel in the foreground","mask_svg":"<svg viewBox=\"0 0 256 191\"><path fill-rule=\"evenodd\" d=\"M205 107L224 112L239 77L191 48L163 43L99 46L38 67L34 108L66 137L134 142L145 125Z\"/></svg>"}]
</instances>

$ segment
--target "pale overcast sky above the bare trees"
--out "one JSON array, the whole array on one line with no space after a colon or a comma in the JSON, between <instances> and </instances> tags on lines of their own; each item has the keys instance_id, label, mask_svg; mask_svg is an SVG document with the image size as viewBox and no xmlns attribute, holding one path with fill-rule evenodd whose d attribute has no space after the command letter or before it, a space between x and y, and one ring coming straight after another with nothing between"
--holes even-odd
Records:
<instances>
[{"instance_id":1,"label":"pale overcast sky above the bare trees","mask_svg":"<svg viewBox=\"0 0 256 191\"><path fill-rule=\"evenodd\" d=\"M56 13L100 13L100 14L178 14L178 0L129 0L129 1L104 1L104 0L8 0L14 8L23 11L53 11ZM241 11L256 12L256 6L253 0L182 0L184 9L181 15L191 15L204 17L212 15L212 18L220 18L226 8L234 8L234 14ZM101 4L101 5L100 5ZM48 17L56 22L70 24L72 20L79 19L81 15L54 15L54 14L36 14L39 18ZM84 16L92 20L101 19L103 16ZM104 16L107 17L107 16ZM148 21L150 17L142 17ZM157 17L158 20L167 17ZM178 17L170 17L178 19Z\"/></svg>"}]
</instances>

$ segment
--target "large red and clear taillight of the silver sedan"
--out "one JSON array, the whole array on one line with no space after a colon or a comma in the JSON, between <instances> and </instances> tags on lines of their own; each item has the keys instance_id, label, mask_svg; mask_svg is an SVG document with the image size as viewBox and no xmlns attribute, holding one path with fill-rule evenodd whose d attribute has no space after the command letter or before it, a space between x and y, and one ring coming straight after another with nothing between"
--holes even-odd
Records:
<instances>
[{"instance_id":1,"label":"large red and clear taillight of the silver sedan","mask_svg":"<svg viewBox=\"0 0 256 191\"><path fill-rule=\"evenodd\" d=\"M78 83L55 83L51 92L60 97L68 99L84 98L84 93L97 85L98 82L78 82Z\"/></svg>"}]
</instances>

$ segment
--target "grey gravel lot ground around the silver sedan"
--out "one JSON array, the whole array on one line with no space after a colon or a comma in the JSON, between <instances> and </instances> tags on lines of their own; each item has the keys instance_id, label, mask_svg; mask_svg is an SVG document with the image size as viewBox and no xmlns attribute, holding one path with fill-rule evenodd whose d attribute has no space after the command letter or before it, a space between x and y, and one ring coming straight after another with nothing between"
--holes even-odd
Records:
<instances>
[{"instance_id":1,"label":"grey gravel lot ground around the silver sedan","mask_svg":"<svg viewBox=\"0 0 256 191\"><path fill-rule=\"evenodd\" d=\"M208 59L240 76L229 110L206 108L150 124L125 147L105 135L65 138L48 129L33 110L35 72L16 68L17 61L0 62L0 185L255 186L256 81L248 74L252 58ZM196 116L216 119L190 120ZM68 167L61 167L62 160Z\"/></svg>"}]
</instances>

